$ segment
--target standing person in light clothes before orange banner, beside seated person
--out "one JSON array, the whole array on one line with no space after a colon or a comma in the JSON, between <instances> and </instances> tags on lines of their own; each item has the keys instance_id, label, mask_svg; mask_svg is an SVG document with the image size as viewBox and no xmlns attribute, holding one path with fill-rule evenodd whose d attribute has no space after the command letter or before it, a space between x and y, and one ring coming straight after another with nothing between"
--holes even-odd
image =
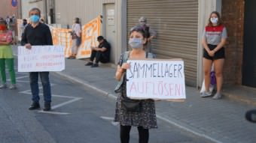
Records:
<instances>
[{"instance_id":1,"label":"standing person in light clothes before orange banner, beside seated person","mask_svg":"<svg viewBox=\"0 0 256 143\"><path fill-rule=\"evenodd\" d=\"M76 58L76 55L78 53L78 47L81 44L81 23L80 19L76 17L74 19L74 24L72 25L72 55L69 57L69 59Z\"/></svg>"}]
</instances>

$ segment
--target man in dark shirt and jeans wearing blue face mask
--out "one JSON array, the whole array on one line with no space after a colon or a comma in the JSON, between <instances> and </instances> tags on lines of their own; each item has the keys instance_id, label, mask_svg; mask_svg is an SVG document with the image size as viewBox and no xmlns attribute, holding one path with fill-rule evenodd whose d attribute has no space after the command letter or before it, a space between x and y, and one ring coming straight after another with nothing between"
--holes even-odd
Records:
<instances>
[{"instance_id":1,"label":"man in dark shirt and jeans wearing blue face mask","mask_svg":"<svg viewBox=\"0 0 256 143\"><path fill-rule=\"evenodd\" d=\"M27 25L25 28L24 36L21 41L22 45L25 46L26 49L32 49L32 46L53 45L50 28L39 22L41 10L36 7L32 8L29 10L29 16L31 24ZM38 75L43 85L44 111L49 111L51 103L49 72L29 73L30 88L32 91L32 105L29 107L29 110L40 109Z\"/></svg>"}]
</instances>

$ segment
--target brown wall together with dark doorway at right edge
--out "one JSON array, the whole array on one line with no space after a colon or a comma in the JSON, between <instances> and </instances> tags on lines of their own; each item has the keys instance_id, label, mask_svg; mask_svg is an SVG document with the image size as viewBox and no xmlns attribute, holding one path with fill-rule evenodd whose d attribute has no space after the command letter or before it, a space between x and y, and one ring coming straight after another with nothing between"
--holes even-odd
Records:
<instances>
[{"instance_id":1,"label":"brown wall together with dark doorway at right edge","mask_svg":"<svg viewBox=\"0 0 256 143\"><path fill-rule=\"evenodd\" d=\"M222 16L228 30L224 80L227 84L256 88L256 1L222 1Z\"/></svg>"}]
</instances>

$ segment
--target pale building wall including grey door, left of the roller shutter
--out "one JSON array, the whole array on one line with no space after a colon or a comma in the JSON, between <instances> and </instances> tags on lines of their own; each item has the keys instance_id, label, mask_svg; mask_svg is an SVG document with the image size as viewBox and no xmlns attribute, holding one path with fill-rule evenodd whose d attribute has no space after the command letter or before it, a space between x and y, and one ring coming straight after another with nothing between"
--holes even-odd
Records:
<instances>
[{"instance_id":1,"label":"pale building wall including grey door, left of the roller shutter","mask_svg":"<svg viewBox=\"0 0 256 143\"><path fill-rule=\"evenodd\" d=\"M111 43L111 62L117 64L126 46L126 1L123 0L55 0L55 20L62 28L70 28L75 17L84 25L101 15L102 35Z\"/></svg>"}]
</instances>

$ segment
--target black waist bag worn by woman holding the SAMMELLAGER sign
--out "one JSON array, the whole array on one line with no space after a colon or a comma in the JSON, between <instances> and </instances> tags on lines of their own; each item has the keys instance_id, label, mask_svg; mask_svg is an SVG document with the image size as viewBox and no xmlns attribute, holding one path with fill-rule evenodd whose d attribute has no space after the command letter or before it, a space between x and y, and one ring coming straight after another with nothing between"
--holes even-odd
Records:
<instances>
[{"instance_id":1,"label":"black waist bag worn by woman holding the SAMMELLAGER sign","mask_svg":"<svg viewBox=\"0 0 256 143\"><path fill-rule=\"evenodd\" d=\"M121 110L126 112L142 112L142 100L132 100L128 97L120 96Z\"/></svg>"}]
</instances>

